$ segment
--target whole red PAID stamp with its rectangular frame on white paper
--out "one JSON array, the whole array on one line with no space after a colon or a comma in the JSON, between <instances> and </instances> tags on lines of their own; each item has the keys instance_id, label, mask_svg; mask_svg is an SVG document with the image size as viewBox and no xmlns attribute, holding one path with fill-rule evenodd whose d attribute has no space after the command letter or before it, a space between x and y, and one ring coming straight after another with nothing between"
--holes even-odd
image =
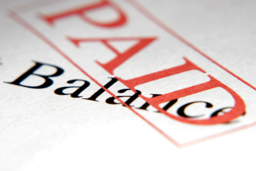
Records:
<instances>
[{"instance_id":1,"label":"whole red PAID stamp with its rectangular frame on white paper","mask_svg":"<svg viewBox=\"0 0 256 171\"><path fill-rule=\"evenodd\" d=\"M256 121L238 88L254 87L134 1L61 1L16 11L16 21L177 146ZM132 107L102 86L107 77L134 93L140 88L143 105ZM149 106L157 112L145 113Z\"/></svg>"}]
</instances>

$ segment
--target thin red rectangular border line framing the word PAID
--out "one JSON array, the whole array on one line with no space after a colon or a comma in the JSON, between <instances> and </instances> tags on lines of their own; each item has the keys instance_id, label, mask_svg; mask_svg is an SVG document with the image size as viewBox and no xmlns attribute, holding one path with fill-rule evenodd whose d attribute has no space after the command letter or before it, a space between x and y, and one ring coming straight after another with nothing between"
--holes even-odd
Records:
<instances>
[{"instance_id":1,"label":"thin red rectangular border line framing the word PAID","mask_svg":"<svg viewBox=\"0 0 256 171\"><path fill-rule=\"evenodd\" d=\"M220 137L232 132L236 132L242 129L245 129L247 127L256 125L256 122L253 122L251 124L248 125L244 125L244 126L240 126L237 127L236 129L233 130L229 130L229 131L225 131L222 133L218 133L215 135L211 135L211 136L207 136L207 137L203 137L197 140L193 140L190 141L188 143L184 143L184 144L179 144L178 142L176 142L174 139L172 139L171 137L169 137L167 134L165 134L162 130L160 130L157 126L155 126L153 123L151 123L150 121L148 121L145 117L143 117L142 115L140 115L137 111L135 111L133 108L131 108L129 105L125 104L120 98L116 97L112 92L110 92L108 89L104 88L104 86L102 84L100 84L96 79L94 79L90 74L88 74L86 71L84 71L81 67L79 67L74 61L71 60L71 58L69 58L66 54L64 54L57 46L55 46L53 44L53 42L51 42L47 37L45 37L42 33L40 33L38 30L36 30L32 25L30 25L29 23L27 23L25 20L23 20L18 13L21 12L25 12L27 10L30 10L34 7L39 7L39 6L46 6L49 4L53 4L53 3L58 3L61 1L66 1L66 0L55 0L55 1L36 1L36 2L32 2L29 4L25 4L23 6L19 6L14 10L10 10L9 16L15 20L16 22L18 22L20 25L22 25L23 27L27 28L29 31L31 31L32 33L34 33L38 38L40 38L42 41L44 41L46 44L48 44L50 47L52 47L56 52L58 52L61 56L63 56L67 61L69 61L72 65L74 65L78 70L80 70L82 73L84 73L85 75L87 75L90 79L92 79L95 83L98 84L98 86L100 86L102 89L104 89L106 92L108 92L111 96L113 96L115 99L117 99L120 103L122 103L123 105L125 105L127 108L129 108L131 111L133 111L137 116L139 116L141 119L143 119L144 121L146 121L149 125L151 125L157 132L159 132L161 135L163 135L165 138L167 138L170 142L172 142L174 145L176 145L177 147L188 147L191 146L193 144L196 143L200 143L212 138L216 138L216 137ZM158 25L160 28L162 28L163 30L165 30L166 32L168 32L169 34L171 34L172 36L176 37L177 39L179 39L180 41L182 41L185 45L187 45L188 47L192 48L194 51L196 51L197 53L201 54L203 57L205 57L206 59L210 60L212 63L218 65L219 67L221 67L222 69L224 69L226 72L228 72L229 74L231 74L232 76L236 77L238 80L242 81L243 83L245 83L247 86L249 86L250 88L252 88L253 90L256 91L256 88L253 87L251 84L249 84L248 82L246 82L245 80L243 80L242 78L240 78L239 76L235 75L234 73L232 73L231 71L229 71L227 68L225 68L224 66L220 65L219 63L217 63L216 61L212 60L209 56L207 56L206 54L204 54L202 51L200 51L198 48L196 48L194 45L192 45L189 41L187 41L185 38L183 38L182 36L180 36L179 34L177 34L174 30L172 30L171 28L169 28L167 25L165 25L162 21L160 21L158 18L156 18L152 13L150 13L146 8L144 8L141 4L139 4L136 0L124 0L126 2L128 2L129 4L131 4L135 9L137 9L138 11L140 11L143 15L145 15L148 19L150 19L153 23L155 23L156 25ZM16 12L15 12L16 11Z\"/></svg>"}]
</instances>

